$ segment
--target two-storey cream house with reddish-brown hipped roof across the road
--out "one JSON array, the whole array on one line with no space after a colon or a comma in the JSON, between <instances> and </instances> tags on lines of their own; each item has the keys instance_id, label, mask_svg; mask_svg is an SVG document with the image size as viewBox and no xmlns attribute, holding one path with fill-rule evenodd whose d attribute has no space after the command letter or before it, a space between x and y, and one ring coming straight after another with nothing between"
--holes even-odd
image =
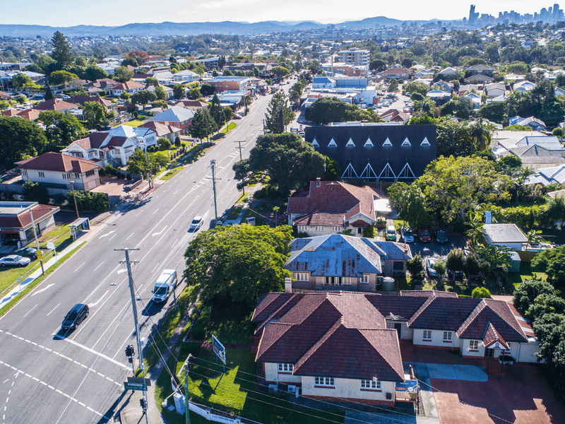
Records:
<instances>
[{"instance_id":1,"label":"two-storey cream house with reddish-brown hipped roof across the road","mask_svg":"<svg viewBox=\"0 0 565 424\"><path fill-rule=\"evenodd\" d=\"M16 164L24 182L38 182L49 194L66 194L72 189L71 182L76 190L100 185L100 165L92 160L49 152Z\"/></svg>"}]
</instances>

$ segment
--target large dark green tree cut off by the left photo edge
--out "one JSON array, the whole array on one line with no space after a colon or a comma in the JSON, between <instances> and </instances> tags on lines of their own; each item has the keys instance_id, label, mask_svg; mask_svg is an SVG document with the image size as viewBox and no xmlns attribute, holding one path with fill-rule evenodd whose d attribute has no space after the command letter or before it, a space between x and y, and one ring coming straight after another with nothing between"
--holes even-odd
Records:
<instances>
[{"instance_id":1,"label":"large dark green tree cut off by the left photo edge","mask_svg":"<svg viewBox=\"0 0 565 424\"><path fill-rule=\"evenodd\" d=\"M44 131L35 122L0 116L0 165L11 166L27 156L36 156L46 144Z\"/></svg>"}]
</instances>

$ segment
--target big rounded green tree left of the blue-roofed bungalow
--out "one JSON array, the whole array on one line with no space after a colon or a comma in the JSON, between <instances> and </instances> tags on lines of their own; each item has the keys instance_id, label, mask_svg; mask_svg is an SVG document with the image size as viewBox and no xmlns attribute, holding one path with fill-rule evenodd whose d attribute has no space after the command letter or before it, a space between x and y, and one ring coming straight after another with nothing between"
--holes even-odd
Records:
<instances>
[{"instance_id":1,"label":"big rounded green tree left of the blue-roofed bungalow","mask_svg":"<svg viewBox=\"0 0 565 424\"><path fill-rule=\"evenodd\" d=\"M184 253L187 285L215 295L255 305L259 295L283 289L292 228L280 225L229 225L200 232Z\"/></svg>"}]
</instances>

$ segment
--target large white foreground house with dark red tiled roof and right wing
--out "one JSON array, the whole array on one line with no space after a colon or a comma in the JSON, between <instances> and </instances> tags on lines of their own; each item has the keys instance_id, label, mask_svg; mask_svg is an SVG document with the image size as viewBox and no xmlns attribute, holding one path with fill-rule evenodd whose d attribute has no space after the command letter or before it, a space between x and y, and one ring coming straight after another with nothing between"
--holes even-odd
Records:
<instances>
[{"instance_id":1,"label":"large white foreground house with dark red tiled roof and right wing","mask_svg":"<svg viewBox=\"0 0 565 424\"><path fill-rule=\"evenodd\" d=\"M502 300L438 291L266 293L251 318L255 360L268 384L304 396L394 406L405 382L400 339L535 363L537 339L517 313Z\"/></svg>"}]
</instances>

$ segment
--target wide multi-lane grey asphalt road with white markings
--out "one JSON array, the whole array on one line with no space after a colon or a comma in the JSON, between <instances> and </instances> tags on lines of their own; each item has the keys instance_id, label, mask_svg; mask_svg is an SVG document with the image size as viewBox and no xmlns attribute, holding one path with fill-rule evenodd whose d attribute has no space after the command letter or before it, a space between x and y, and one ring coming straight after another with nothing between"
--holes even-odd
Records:
<instances>
[{"instance_id":1,"label":"wide multi-lane grey asphalt road with white markings","mask_svg":"<svg viewBox=\"0 0 565 424\"><path fill-rule=\"evenodd\" d=\"M130 259L137 261L133 280L146 337L167 309L150 301L157 276L163 269L177 269L182 276L182 255L196 235L187 231L194 216L205 218L199 231L213 224L210 160L216 161L221 216L239 196L234 141L245 141L242 154L249 156L270 98L259 96L236 129L153 190L148 201L108 218L93 240L0 318L0 423L112 422L119 401L128 396L123 382L131 365L125 347L135 344L126 266L120 264L125 255L114 248L139 249ZM177 295L182 288L184 283ZM78 302L90 306L90 316L75 331L62 330L64 315Z\"/></svg>"}]
</instances>

